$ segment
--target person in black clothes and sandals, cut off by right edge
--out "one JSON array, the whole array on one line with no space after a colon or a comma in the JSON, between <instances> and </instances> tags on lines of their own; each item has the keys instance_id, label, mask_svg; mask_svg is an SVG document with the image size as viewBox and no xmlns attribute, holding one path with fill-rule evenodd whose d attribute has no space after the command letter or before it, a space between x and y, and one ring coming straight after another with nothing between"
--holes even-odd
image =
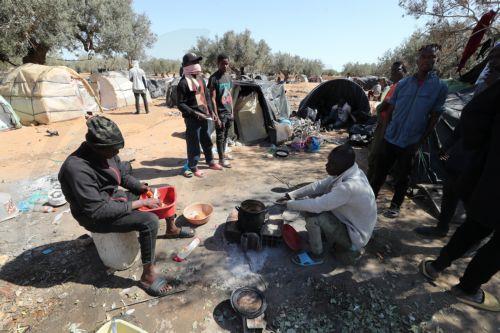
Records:
<instances>
[{"instance_id":1,"label":"person in black clothes and sandals, cut off by right edge","mask_svg":"<svg viewBox=\"0 0 500 333\"><path fill-rule=\"evenodd\" d=\"M500 312L500 301L481 289L500 270L500 81L475 96L462 112L463 146L477 153L460 177L460 195L467 220L451 237L436 260L426 259L420 271L434 280L439 272L491 235L467 266L460 283L452 288L456 297L480 309Z\"/></svg>"}]
</instances>

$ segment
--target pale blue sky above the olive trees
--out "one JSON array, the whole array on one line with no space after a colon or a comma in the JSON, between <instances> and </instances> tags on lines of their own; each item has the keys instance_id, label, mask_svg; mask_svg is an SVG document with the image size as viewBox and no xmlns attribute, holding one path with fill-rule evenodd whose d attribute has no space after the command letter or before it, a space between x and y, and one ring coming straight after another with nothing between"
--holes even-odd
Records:
<instances>
[{"instance_id":1,"label":"pale blue sky above the olive trees","mask_svg":"<svg viewBox=\"0 0 500 333\"><path fill-rule=\"evenodd\" d=\"M180 59L197 36L249 29L272 52L320 59L336 70L350 61L376 62L423 25L403 17L397 0L134 0L133 7L158 35L149 56Z\"/></svg>"}]
</instances>

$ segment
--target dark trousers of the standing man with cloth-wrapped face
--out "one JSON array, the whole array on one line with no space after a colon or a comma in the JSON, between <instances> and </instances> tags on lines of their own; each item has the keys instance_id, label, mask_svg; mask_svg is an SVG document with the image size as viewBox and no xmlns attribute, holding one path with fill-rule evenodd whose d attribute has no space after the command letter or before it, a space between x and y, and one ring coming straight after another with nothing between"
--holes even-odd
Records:
<instances>
[{"instance_id":1,"label":"dark trousers of the standing man with cloth-wrapped face","mask_svg":"<svg viewBox=\"0 0 500 333\"><path fill-rule=\"evenodd\" d=\"M212 154L212 140L208 134L208 120L184 118L186 124L186 145L188 154L188 166L195 171L200 160L200 144L205 154L205 161L210 164L214 160Z\"/></svg>"}]
</instances>

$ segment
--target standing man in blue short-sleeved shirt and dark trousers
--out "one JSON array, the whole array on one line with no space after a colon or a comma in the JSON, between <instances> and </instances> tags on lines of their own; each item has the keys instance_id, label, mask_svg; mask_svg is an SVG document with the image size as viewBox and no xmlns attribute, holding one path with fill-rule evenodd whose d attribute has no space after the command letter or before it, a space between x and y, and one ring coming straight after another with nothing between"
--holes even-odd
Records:
<instances>
[{"instance_id":1,"label":"standing man in blue short-sleeved shirt and dark trousers","mask_svg":"<svg viewBox=\"0 0 500 333\"><path fill-rule=\"evenodd\" d=\"M390 106L386 112L391 117L383 121L387 130L377 154L375 173L370 179L377 196L387 174L397 163L394 196L389 209L384 213L388 218L399 216L415 155L427 141L444 111L448 88L434 71L439 48L436 44L420 48L417 73L401 80L388 102Z\"/></svg>"}]
</instances>

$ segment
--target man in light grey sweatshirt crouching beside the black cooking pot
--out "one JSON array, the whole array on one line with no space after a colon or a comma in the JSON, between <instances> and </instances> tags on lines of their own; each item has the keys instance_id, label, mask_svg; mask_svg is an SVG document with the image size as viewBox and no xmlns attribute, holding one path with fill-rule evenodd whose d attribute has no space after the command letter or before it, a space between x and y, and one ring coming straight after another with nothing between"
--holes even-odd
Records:
<instances>
[{"instance_id":1,"label":"man in light grey sweatshirt crouching beside the black cooking pot","mask_svg":"<svg viewBox=\"0 0 500 333\"><path fill-rule=\"evenodd\" d=\"M306 216L310 251L292 258L300 266L323 263L322 234L328 247L343 262L359 257L377 222L375 195L365 174L355 162L349 145L338 146L328 155L328 177L287 193L278 203Z\"/></svg>"}]
</instances>

